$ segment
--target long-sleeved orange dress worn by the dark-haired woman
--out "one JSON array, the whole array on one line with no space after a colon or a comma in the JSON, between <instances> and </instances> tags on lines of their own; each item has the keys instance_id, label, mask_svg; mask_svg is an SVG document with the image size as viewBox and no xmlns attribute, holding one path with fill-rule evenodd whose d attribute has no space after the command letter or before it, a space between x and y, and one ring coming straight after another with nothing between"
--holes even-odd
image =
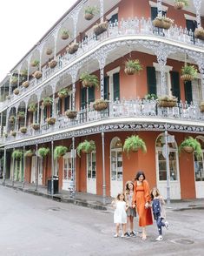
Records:
<instances>
[{"instance_id":1,"label":"long-sleeved orange dress worn by the dark-haired woman","mask_svg":"<svg viewBox=\"0 0 204 256\"><path fill-rule=\"evenodd\" d=\"M133 204L136 205L139 215L139 226L148 226L153 224L151 208L144 207L146 202L150 202L150 193L148 181L143 180L141 185L137 185L135 181Z\"/></svg>"}]
</instances>

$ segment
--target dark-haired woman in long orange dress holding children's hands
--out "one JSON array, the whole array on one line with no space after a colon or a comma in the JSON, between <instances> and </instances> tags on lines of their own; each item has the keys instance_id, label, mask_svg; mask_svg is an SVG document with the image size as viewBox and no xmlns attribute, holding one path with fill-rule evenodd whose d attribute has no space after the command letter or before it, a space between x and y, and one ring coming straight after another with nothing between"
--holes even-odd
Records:
<instances>
[{"instance_id":1,"label":"dark-haired woman in long orange dress holding children's hands","mask_svg":"<svg viewBox=\"0 0 204 256\"><path fill-rule=\"evenodd\" d=\"M137 172L134 184L133 207L136 206L139 215L139 226L142 227L142 239L147 239L146 226L153 224L152 212L149 207L151 197L148 181L144 172Z\"/></svg>"}]
</instances>

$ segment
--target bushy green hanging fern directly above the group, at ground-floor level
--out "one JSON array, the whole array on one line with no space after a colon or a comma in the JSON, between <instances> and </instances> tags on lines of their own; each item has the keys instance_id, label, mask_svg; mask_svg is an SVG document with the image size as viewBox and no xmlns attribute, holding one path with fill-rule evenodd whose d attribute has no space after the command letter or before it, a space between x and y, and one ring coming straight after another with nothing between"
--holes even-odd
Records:
<instances>
[{"instance_id":1,"label":"bushy green hanging fern directly above the group, at ground-floor level","mask_svg":"<svg viewBox=\"0 0 204 256\"><path fill-rule=\"evenodd\" d=\"M142 152L147 152L145 142L138 135L132 135L125 139L123 152L127 152L127 154L129 154L129 152L137 152L139 149L141 149Z\"/></svg>"}]
</instances>

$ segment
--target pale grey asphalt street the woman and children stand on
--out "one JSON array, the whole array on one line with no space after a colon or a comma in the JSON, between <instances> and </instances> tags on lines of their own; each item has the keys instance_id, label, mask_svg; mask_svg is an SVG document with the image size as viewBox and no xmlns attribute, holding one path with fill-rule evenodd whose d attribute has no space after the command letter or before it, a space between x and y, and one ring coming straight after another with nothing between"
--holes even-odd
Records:
<instances>
[{"instance_id":1,"label":"pale grey asphalt street the woman and children stand on","mask_svg":"<svg viewBox=\"0 0 204 256\"><path fill-rule=\"evenodd\" d=\"M155 241L114 238L113 212L56 202L0 186L1 256L196 255L204 253L204 210L167 211L170 229ZM135 230L140 231L135 219Z\"/></svg>"}]
</instances>

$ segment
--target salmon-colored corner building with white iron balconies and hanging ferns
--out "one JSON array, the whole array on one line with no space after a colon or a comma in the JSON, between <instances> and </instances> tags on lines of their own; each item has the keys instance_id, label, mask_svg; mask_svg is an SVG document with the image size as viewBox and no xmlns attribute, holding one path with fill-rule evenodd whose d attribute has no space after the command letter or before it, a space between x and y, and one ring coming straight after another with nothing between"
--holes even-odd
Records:
<instances>
[{"instance_id":1,"label":"salmon-colored corner building with white iron balconies and hanging ferns","mask_svg":"<svg viewBox=\"0 0 204 256\"><path fill-rule=\"evenodd\" d=\"M3 182L115 197L143 170L165 198L204 198L203 153L179 152L204 152L203 27L204 0L77 1L1 82ZM146 153L123 151L132 135Z\"/></svg>"}]
</instances>

